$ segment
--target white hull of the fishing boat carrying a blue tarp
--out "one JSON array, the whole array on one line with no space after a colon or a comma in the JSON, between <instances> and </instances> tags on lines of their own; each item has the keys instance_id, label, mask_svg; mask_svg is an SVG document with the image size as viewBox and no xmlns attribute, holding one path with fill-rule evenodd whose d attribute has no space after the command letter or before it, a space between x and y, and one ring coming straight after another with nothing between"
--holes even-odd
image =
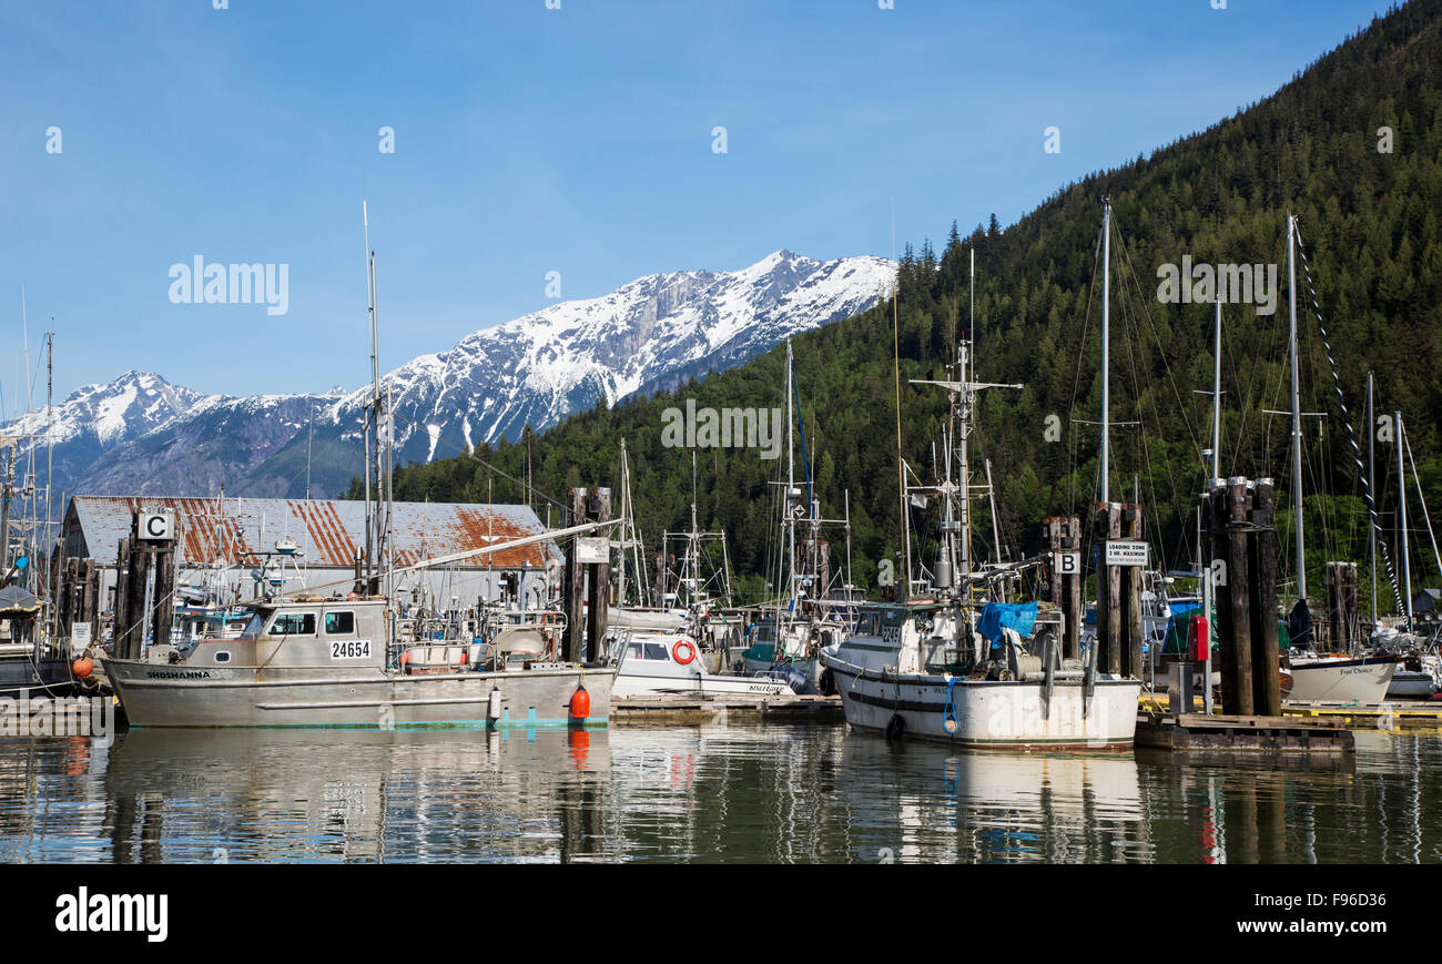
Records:
<instances>
[{"instance_id":1,"label":"white hull of the fishing boat carrying a blue tarp","mask_svg":"<svg viewBox=\"0 0 1442 964\"><path fill-rule=\"evenodd\" d=\"M898 717L904 739L1009 750L1125 750L1136 736L1139 680L1099 675L1090 700L1080 683L1058 680L1047 700L1041 681L895 674L829 654L822 660L835 675L846 723L857 729L894 732Z\"/></svg>"}]
</instances>

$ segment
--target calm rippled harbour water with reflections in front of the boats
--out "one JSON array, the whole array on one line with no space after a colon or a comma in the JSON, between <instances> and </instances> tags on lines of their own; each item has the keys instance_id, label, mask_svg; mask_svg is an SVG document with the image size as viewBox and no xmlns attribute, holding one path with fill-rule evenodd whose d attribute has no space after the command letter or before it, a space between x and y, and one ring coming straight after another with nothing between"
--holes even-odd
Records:
<instances>
[{"instance_id":1,"label":"calm rippled harbour water with reflections in front of the boats","mask_svg":"<svg viewBox=\"0 0 1442 964\"><path fill-rule=\"evenodd\" d=\"M0 862L1436 863L1442 736L976 755L820 727L0 739Z\"/></svg>"}]
</instances>

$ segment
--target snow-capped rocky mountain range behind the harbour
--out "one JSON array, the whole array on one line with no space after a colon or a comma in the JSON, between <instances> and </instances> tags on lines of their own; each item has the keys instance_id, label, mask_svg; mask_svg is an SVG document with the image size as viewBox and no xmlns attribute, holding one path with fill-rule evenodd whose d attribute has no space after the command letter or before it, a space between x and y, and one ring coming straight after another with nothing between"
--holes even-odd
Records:
<instances>
[{"instance_id":1,"label":"snow-capped rocky mountain range behind the harbour","mask_svg":"<svg viewBox=\"0 0 1442 964\"><path fill-rule=\"evenodd\" d=\"M385 375L397 462L428 462L600 400L671 387L877 303L885 258L816 261L776 251L740 271L650 274L482 329ZM203 395L125 372L55 408L56 492L336 495L360 470L366 385L343 394ZM311 421L313 420L313 421ZM0 427L43 436L45 414ZM42 443L43 444L43 443ZM62 457L63 450L63 457ZM309 452L309 456L307 456Z\"/></svg>"}]
</instances>

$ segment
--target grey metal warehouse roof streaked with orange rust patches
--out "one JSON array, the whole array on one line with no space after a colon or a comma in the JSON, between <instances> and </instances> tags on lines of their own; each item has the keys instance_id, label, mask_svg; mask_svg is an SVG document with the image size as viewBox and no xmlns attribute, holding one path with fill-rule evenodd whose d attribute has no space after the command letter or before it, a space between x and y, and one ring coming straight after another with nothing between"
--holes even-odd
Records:
<instances>
[{"instance_id":1,"label":"grey metal warehouse roof streaked with orange rust patches","mask_svg":"<svg viewBox=\"0 0 1442 964\"><path fill-rule=\"evenodd\" d=\"M365 502L319 499L187 499L169 496L76 495L65 514L65 551L85 551L98 563L115 561L137 508L170 509L180 531L180 563L247 564L251 553L275 551L290 537L307 566L352 567L365 551ZM397 502L391 514L395 564L485 548L545 531L525 505ZM84 550L81 541L84 538ZM552 541L477 556L460 567L542 567L564 560Z\"/></svg>"}]
</instances>

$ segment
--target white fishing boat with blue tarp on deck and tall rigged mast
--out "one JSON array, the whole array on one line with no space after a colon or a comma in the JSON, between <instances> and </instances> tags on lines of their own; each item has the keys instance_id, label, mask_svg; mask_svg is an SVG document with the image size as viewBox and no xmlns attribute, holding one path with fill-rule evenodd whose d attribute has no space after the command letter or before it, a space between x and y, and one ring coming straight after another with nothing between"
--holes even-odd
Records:
<instances>
[{"instance_id":1,"label":"white fishing boat with blue tarp on deck and tall rigged mast","mask_svg":"<svg viewBox=\"0 0 1442 964\"><path fill-rule=\"evenodd\" d=\"M1109 225L1110 205L1103 229ZM979 391L1021 385L973 381L969 349L970 342L960 338L955 380L923 382L945 388L952 400L943 446L946 469L936 486L943 518L932 592L926 596L904 593L900 602L890 605L859 605L857 632L822 651L822 661L841 691L846 722L888 737L916 736L976 749L1131 748L1136 733L1139 680L1097 672L1096 647L1089 649L1086 662L1063 661L1056 634L1044 631L1037 621L1035 603L988 602L978 612L973 592L985 587L994 574L973 573L970 566L970 420ZM1105 359L1106 352L1103 384ZM900 407L900 375L897 381ZM1103 426L1105 419L1103 408ZM959 469L955 479L953 462ZM908 498L904 462L898 465L898 476L904 531ZM910 573L910 553L906 567ZM1032 634L1031 639L1024 639L1027 634Z\"/></svg>"}]
</instances>

